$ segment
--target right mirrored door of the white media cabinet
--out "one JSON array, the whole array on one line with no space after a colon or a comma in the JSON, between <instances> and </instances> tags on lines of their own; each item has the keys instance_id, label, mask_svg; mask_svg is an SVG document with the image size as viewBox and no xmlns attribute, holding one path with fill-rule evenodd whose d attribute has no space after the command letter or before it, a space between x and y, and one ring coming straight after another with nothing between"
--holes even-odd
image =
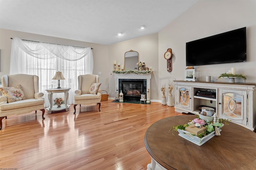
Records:
<instances>
[{"instance_id":1,"label":"right mirrored door of the white media cabinet","mask_svg":"<svg viewBox=\"0 0 256 170\"><path fill-rule=\"evenodd\" d=\"M222 92L222 111L223 118L246 124L247 93L239 90L220 90Z\"/></svg>"}]
</instances>

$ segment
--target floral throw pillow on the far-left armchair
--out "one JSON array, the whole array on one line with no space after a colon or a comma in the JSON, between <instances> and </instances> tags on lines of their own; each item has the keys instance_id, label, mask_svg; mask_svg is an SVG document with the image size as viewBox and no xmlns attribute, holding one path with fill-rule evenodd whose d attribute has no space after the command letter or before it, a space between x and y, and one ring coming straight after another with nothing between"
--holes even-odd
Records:
<instances>
[{"instance_id":1,"label":"floral throw pillow on the far-left armchair","mask_svg":"<svg viewBox=\"0 0 256 170\"><path fill-rule=\"evenodd\" d=\"M1 87L0 91L6 96L8 103L26 99L20 84L15 87Z\"/></svg>"}]
</instances>

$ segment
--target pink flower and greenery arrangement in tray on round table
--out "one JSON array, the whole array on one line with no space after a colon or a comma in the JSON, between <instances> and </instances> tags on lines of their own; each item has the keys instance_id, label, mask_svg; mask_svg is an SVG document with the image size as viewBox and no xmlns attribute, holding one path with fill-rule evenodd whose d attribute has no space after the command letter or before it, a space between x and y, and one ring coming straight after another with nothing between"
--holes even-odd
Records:
<instances>
[{"instance_id":1,"label":"pink flower and greenery arrangement in tray on round table","mask_svg":"<svg viewBox=\"0 0 256 170\"><path fill-rule=\"evenodd\" d=\"M189 123L186 123L185 125L175 125L171 129L173 129L172 132L173 131L178 131L178 129L185 130L186 127L188 127L189 125L194 124L196 127L199 127L199 128L201 126L205 127L206 131L204 131L202 133L199 133L198 135L194 135L194 134L191 134L191 135L194 135L194 136L197 136L199 138L202 138L202 137L207 136L208 134L210 134L212 131L215 130L215 135L219 136L220 132L219 132L218 128L221 129L221 127L224 124L228 125L227 121L230 121L230 120L228 120L228 119L220 119L220 118L216 117L216 113L214 113L214 121L213 122L208 121L208 120L200 119L199 116L197 115L197 118L193 119ZM172 133L172 135L174 135L174 134Z\"/></svg>"}]
</instances>

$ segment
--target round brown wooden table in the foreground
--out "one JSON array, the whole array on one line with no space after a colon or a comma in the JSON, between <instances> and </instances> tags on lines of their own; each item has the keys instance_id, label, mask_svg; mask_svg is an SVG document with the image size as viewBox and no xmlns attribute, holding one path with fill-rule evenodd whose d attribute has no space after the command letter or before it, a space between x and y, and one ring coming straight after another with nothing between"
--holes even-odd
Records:
<instances>
[{"instance_id":1,"label":"round brown wooden table in the foreground","mask_svg":"<svg viewBox=\"0 0 256 170\"><path fill-rule=\"evenodd\" d=\"M245 127L228 122L220 136L198 146L178 135L170 128L184 125L195 115L167 117L152 124L146 131L144 142L152 160L148 170L156 166L177 170L256 169L256 134Z\"/></svg>"}]
</instances>

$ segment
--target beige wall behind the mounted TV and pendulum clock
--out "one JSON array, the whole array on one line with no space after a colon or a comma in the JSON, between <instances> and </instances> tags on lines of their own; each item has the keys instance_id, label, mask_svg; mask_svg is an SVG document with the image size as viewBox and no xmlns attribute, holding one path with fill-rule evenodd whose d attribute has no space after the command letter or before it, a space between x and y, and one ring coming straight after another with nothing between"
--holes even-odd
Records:
<instances>
[{"instance_id":1,"label":"beige wall behind the mounted TV and pendulum clock","mask_svg":"<svg viewBox=\"0 0 256 170\"><path fill-rule=\"evenodd\" d=\"M211 64L195 66L198 80L205 81L206 76L212 80L236 68L238 74L247 76L246 82L256 83L256 1L254 0L199 0L184 14L172 21L158 35L159 40L159 85L167 83L168 78L184 79L186 68L186 42L208 37L218 33L246 27L247 31L247 62ZM174 58L172 72L167 72L166 60L163 55L166 49L172 48ZM227 82L228 79L219 79L218 82ZM236 82L244 82L236 79ZM160 97L160 93L158 95Z\"/></svg>"}]
</instances>

